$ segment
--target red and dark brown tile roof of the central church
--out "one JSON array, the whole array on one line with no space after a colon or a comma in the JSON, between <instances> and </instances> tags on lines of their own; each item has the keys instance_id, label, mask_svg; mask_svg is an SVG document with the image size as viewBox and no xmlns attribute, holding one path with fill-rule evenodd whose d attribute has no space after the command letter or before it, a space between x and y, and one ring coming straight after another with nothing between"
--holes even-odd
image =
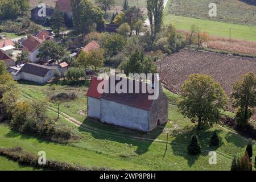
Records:
<instances>
[{"instance_id":1,"label":"red and dark brown tile roof of the central church","mask_svg":"<svg viewBox=\"0 0 256 182\"><path fill-rule=\"evenodd\" d=\"M151 105L154 100L148 99L148 96L150 96L149 93L142 93L142 82L120 77L120 80L115 80L115 85L117 85L118 82L122 81L123 79L126 79L127 81L127 93L121 93L121 94L110 93L110 90L109 90L109 93L100 94L97 91L97 87L98 87L98 84L100 84L101 80L98 81L97 77L94 77L89 87L87 96L94 97L94 98L102 98L105 100L117 102L119 104L150 111ZM107 84L109 84L109 89L110 89L110 81L107 81ZM129 85L132 85L132 84L133 84L134 90L133 90L133 93L129 93ZM135 84L139 84L139 93L135 93ZM147 87L147 84L145 85Z\"/></svg>"}]
</instances>

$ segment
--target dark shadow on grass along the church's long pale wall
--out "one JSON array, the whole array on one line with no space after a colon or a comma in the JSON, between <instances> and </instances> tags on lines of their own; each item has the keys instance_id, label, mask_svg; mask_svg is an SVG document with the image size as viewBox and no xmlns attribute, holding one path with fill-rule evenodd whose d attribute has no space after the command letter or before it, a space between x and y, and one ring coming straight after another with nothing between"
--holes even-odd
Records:
<instances>
[{"instance_id":1,"label":"dark shadow on grass along the church's long pale wall","mask_svg":"<svg viewBox=\"0 0 256 182\"><path fill-rule=\"evenodd\" d=\"M154 142L154 140L158 138L161 133L163 133L164 126L166 125L164 124L157 127L150 133L145 133L142 131L127 129L121 126L109 125L91 118L86 118L82 124L93 129L90 130L79 127L79 131L86 131L86 133L92 134L93 138L96 139L107 139L118 143L132 144L133 146L137 146L137 150L135 152L138 155L145 154L148 151L148 148L151 146L152 142Z\"/></svg>"}]
</instances>

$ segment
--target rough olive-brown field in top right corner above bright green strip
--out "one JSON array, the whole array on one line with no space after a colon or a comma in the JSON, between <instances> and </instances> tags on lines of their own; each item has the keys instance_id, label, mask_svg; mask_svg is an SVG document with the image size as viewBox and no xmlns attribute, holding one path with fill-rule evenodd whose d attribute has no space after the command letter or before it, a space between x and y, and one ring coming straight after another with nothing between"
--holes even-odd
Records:
<instances>
[{"instance_id":1,"label":"rough olive-brown field in top right corner above bright green strip","mask_svg":"<svg viewBox=\"0 0 256 182\"><path fill-rule=\"evenodd\" d=\"M256 26L256 2L251 0L171 0L169 13L198 19ZM209 16L209 4L216 3L217 16Z\"/></svg>"}]
</instances>

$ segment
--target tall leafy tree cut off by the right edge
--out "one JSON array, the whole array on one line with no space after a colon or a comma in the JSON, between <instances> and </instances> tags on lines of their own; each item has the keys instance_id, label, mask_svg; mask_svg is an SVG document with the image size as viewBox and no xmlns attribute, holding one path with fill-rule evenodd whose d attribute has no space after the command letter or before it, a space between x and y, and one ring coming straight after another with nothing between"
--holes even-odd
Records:
<instances>
[{"instance_id":1,"label":"tall leafy tree cut off by the right edge","mask_svg":"<svg viewBox=\"0 0 256 182\"><path fill-rule=\"evenodd\" d=\"M233 106L238 107L236 121L238 125L246 125L256 106L256 77L253 72L241 76L233 86L231 94Z\"/></svg>"}]
</instances>

